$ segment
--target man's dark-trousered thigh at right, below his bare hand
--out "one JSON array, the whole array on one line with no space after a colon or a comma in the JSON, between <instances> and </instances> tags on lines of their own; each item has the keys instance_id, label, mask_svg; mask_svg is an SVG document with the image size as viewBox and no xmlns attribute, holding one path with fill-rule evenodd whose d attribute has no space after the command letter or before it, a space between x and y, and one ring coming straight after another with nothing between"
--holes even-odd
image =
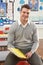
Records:
<instances>
[{"instance_id":1,"label":"man's dark-trousered thigh at right, below his bare hand","mask_svg":"<svg viewBox=\"0 0 43 65\"><path fill-rule=\"evenodd\" d=\"M29 59L31 65L42 65L42 61L40 57L34 53L32 57Z\"/></svg>"}]
</instances>

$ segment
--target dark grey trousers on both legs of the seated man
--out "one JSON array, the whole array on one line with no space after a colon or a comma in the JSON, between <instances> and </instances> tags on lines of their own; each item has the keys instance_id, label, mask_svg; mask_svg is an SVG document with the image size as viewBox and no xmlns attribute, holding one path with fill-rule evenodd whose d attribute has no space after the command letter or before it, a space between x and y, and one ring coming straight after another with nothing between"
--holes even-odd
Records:
<instances>
[{"instance_id":1,"label":"dark grey trousers on both legs of the seated man","mask_svg":"<svg viewBox=\"0 0 43 65\"><path fill-rule=\"evenodd\" d=\"M22 59L18 58L12 53L9 53L4 65L16 65L20 60ZM41 59L36 53L34 53L27 61L30 63L30 65L43 65Z\"/></svg>"}]
</instances>

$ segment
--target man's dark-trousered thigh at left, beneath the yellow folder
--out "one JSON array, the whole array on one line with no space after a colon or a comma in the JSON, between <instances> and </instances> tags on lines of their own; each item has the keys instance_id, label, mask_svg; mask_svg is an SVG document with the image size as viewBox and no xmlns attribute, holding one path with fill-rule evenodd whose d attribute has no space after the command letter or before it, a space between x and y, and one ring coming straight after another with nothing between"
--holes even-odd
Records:
<instances>
[{"instance_id":1,"label":"man's dark-trousered thigh at left, beneath the yellow folder","mask_svg":"<svg viewBox=\"0 0 43 65\"><path fill-rule=\"evenodd\" d=\"M20 59L18 57L16 57L14 54L9 53L4 65L16 65L19 60Z\"/></svg>"}]
</instances>

